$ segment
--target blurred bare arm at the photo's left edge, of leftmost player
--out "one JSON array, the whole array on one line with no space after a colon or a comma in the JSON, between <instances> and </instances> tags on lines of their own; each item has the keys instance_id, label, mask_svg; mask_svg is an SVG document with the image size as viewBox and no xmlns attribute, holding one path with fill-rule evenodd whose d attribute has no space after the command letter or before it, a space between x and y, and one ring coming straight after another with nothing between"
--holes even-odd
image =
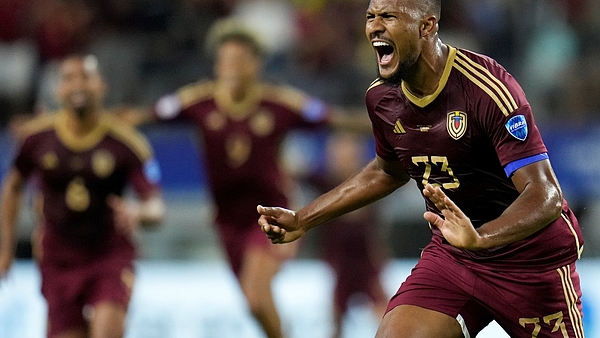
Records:
<instances>
[{"instance_id":1,"label":"blurred bare arm at the photo's left edge, of leftmost player","mask_svg":"<svg viewBox=\"0 0 600 338\"><path fill-rule=\"evenodd\" d=\"M15 257L17 217L23 196L24 178L16 170L7 173L2 184L0 204L0 278L4 277Z\"/></svg>"}]
</instances>

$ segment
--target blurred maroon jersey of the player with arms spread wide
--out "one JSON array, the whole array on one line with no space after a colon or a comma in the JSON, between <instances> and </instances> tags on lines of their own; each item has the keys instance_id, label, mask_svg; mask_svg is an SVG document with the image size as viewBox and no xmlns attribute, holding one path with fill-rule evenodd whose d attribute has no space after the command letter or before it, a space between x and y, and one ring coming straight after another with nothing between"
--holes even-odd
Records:
<instances>
[{"instance_id":1,"label":"blurred maroon jersey of the player with arms spread wide","mask_svg":"<svg viewBox=\"0 0 600 338\"><path fill-rule=\"evenodd\" d=\"M243 102L231 102L209 81L162 97L154 112L160 120L185 120L199 131L222 223L255 219L258 204L287 205L281 141L293 128L322 126L329 115L323 102L291 88L256 85Z\"/></svg>"}]
</instances>

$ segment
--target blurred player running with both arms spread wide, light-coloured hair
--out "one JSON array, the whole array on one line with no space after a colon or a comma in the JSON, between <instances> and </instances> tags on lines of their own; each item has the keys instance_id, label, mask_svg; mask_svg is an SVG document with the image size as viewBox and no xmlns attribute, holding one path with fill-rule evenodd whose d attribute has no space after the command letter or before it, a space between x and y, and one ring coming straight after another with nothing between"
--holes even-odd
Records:
<instances>
[{"instance_id":1,"label":"blurred player running with both arms spread wide, light-coloured hair","mask_svg":"<svg viewBox=\"0 0 600 338\"><path fill-rule=\"evenodd\" d=\"M261 44L245 28L224 21L210 34L214 80L189 84L157 100L153 119L185 121L199 133L216 207L216 230L249 309L268 337L283 335L271 292L281 264L296 245L274 246L256 227L256 204L288 204L289 179L280 170L280 145L291 130L329 124L364 129L321 100L260 78ZM126 116L148 122L150 114ZM362 127L361 127L362 126Z\"/></svg>"}]
</instances>

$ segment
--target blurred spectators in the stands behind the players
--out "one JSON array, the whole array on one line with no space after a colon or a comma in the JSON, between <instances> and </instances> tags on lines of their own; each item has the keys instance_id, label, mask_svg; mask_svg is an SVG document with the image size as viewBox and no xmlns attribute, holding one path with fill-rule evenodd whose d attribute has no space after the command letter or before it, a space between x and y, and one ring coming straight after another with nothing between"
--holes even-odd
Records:
<instances>
[{"instance_id":1,"label":"blurred spectators in the stands behind the players","mask_svg":"<svg viewBox=\"0 0 600 338\"><path fill-rule=\"evenodd\" d=\"M91 52L108 104L148 103L211 75L205 40L225 17L257 30L267 76L333 104L361 106L375 77L367 0L1 0L0 123L55 108L56 61ZM600 1L445 0L443 41L496 58L522 83L538 119L600 112Z\"/></svg>"}]
</instances>

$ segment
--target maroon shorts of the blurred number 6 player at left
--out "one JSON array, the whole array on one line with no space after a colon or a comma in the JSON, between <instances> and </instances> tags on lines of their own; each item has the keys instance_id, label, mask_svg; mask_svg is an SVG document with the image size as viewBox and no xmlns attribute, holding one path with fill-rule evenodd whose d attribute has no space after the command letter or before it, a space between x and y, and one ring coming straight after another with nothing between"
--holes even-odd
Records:
<instances>
[{"instance_id":1,"label":"maroon shorts of the blurred number 6 player at left","mask_svg":"<svg viewBox=\"0 0 600 338\"><path fill-rule=\"evenodd\" d=\"M109 301L127 307L133 286L133 262L102 259L77 267L40 266L42 294L48 305L48 335L85 327L85 306Z\"/></svg>"}]
</instances>

